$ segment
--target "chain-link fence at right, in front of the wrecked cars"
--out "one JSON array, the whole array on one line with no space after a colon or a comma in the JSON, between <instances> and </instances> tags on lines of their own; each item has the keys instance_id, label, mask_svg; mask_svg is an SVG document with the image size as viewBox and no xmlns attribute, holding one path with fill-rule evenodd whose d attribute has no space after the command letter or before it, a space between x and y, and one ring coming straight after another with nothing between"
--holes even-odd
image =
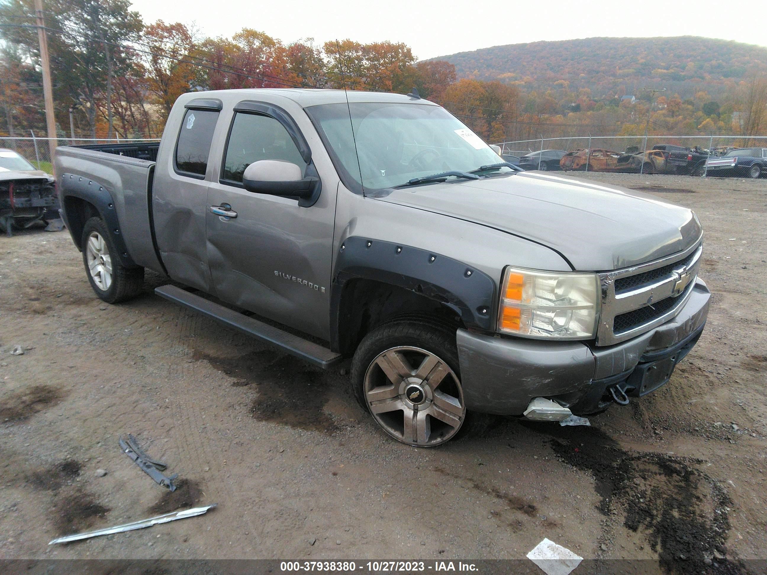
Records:
<instances>
[{"instance_id":1,"label":"chain-link fence at right, in front of the wrecked cars","mask_svg":"<svg viewBox=\"0 0 767 575\"><path fill-rule=\"evenodd\" d=\"M671 146L680 146L689 150L691 157L694 154L695 158L700 158L697 163L690 160L691 163L684 168L686 172L705 175L709 156L724 156L739 148L767 149L767 136L574 136L499 142L496 145L500 146L502 155L522 157L532 154L535 163L549 160L545 169L560 169L555 160L557 156L561 158L562 152L584 150L581 154L584 157L575 162L577 167L571 169L626 172L645 172L646 168L654 170L657 166L653 164L653 150L667 151L674 149ZM616 162L591 161L595 159L595 154L596 157L614 157ZM657 155L660 157L660 154ZM623 166L617 163L618 156L623 156ZM626 156L634 156L634 159L626 162ZM674 171L667 169L663 172Z\"/></svg>"}]
</instances>

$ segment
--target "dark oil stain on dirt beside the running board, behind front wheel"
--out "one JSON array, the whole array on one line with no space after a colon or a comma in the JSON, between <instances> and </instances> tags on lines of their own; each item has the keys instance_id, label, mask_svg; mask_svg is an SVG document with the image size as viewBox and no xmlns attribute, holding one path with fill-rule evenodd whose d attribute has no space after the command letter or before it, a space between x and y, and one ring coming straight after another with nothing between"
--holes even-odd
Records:
<instances>
[{"instance_id":1,"label":"dark oil stain on dirt beside the running board, behind front wheel","mask_svg":"<svg viewBox=\"0 0 767 575\"><path fill-rule=\"evenodd\" d=\"M194 359L206 360L234 378L232 386L258 386L250 411L259 421L328 434L337 430L324 412L331 388L327 374L312 370L295 357L260 350L231 359L198 351Z\"/></svg>"}]
</instances>

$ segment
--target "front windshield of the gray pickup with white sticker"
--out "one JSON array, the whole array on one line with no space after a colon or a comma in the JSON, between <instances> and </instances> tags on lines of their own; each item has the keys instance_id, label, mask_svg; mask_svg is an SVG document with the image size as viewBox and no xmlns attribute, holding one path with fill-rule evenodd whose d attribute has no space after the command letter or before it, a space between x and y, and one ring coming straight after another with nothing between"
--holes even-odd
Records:
<instances>
[{"instance_id":1,"label":"front windshield of the gray pickup with white sticker","mask_svg":"<svg viewBox=\"0 0 767 575\"><path fill-rule=\"evenodd\" d=\"M350 110L354 135L349 124ZM503 161L442 107L324 104L308 107L306 111L324 136L344 183L347 187L351 184L356 192L360 191L360 184L365 189L390 188L414 178L448 171L469 172Z\"/></svg>"}]
</instances>

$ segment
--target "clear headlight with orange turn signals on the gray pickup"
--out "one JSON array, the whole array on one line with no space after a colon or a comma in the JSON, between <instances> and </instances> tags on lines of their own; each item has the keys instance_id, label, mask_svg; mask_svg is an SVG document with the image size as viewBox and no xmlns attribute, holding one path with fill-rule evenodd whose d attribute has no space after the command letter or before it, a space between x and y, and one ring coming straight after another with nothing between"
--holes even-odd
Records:
<instances>
[{"instance_id":1,"label":"clear headlight with orange turn signals on the gray pickup","mask_svg":"<svg viewBox=\"0 0 767 575\"><path fill-rule=\"evenodd\" d=\"M498 317L502 334L588 340L596 336L598 316L597 274L504 271Z\"/></svg>"}]
</instances>

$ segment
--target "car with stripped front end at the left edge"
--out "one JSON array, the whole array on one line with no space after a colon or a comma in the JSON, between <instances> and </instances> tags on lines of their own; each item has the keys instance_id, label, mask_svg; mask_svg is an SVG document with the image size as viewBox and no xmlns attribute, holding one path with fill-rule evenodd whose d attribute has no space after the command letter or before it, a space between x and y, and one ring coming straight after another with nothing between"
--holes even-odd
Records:
<instances>
[{"instance_id":1,"label":"car with stripped front end at the left edge","mask_svg":"<svg viewBox=\"0 0 767 575\"><path fill-rule=\"evenodd\" d=\"M58 218L53 176L32 166L12 149L0 148L0 231Z\"/></svg>"}]
</instances>

